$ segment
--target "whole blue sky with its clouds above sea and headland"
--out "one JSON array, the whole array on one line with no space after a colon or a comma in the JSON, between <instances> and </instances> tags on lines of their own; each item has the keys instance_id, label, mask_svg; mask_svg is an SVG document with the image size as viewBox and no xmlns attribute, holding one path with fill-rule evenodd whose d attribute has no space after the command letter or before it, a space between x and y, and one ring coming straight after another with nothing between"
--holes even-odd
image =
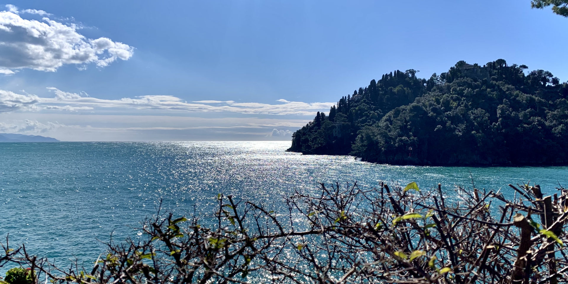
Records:
<instances>
[{"instance_id":1,"label":"whole blue sky with its clouds above sea and headland","mask_svg":"<svg viewBox=\"0 0 568 284\"><path fill-rule=\"evenodd\" d=\"M529 0L0 3L0 133L290 140L396 69L505 59L566 81L567 27Z\"/></svg>"}]
</instances>

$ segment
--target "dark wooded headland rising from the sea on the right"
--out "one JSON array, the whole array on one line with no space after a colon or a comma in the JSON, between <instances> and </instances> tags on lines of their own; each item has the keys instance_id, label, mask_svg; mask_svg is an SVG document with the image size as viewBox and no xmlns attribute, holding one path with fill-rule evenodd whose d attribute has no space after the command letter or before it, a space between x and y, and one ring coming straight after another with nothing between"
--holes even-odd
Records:
<instances>
[{"instance_id":1,"label":"dark wooded headland rising from the sea on the right","mask_svg":"<svg viewBox=\"0 0 568 284\"><path fill-rule=\"evenodd\" d=\"M289 150L388 164L566 164L568 86L524 69L500 59L460 61L429 80L387 74L316 115Z\"/></svg>"}]
</instances>

